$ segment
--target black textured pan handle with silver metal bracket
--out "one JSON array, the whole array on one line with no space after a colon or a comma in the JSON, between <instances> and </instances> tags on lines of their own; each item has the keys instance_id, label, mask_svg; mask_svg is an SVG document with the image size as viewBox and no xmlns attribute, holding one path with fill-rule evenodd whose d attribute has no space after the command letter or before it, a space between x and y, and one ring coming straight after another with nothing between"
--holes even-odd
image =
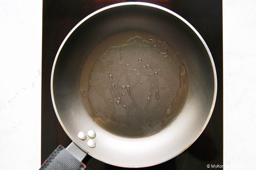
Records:
<instances>
[{"instance_id":1,"label":"black textured pan handle with silver metal bracket","mask_svg":"<svg viewBox=\"0 0 256 170\"><path fill-rule=\"evenodd\" d=\"M86 165L81 161L86 155L74 142L70 143L66 149L59 145L39 170L84 170Z\"/></svg>"}]
</instances>

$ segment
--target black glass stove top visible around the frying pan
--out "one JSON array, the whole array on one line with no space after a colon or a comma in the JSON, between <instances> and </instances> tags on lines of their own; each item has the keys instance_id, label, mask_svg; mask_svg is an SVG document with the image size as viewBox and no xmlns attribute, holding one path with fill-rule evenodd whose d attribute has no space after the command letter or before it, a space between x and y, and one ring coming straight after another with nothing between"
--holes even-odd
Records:
<instances>
[{"instance_id":1,"label":"black glass stove top visible around the frying pan","mask_svg":"<svg viewBox=\"0 0 256 170\"><path fill-rule=\"evenodd\" d=\"M51 69L58 48L72 27L85 16L101 7L117 2L125 2L125 0L43 0L42 163L59 144L66 147L71 142L57 120L50 95ZM173 159L160 165L141 169L203 170L208 169L207 165L223 165L222 0L143 0L143 2L171 9L197 29L213 56L217 70L218 90L210 122L197 141ZM83 162L86 163L88 170L130 169L108 165L89 156Z\"/></svg>"}]
</instances>

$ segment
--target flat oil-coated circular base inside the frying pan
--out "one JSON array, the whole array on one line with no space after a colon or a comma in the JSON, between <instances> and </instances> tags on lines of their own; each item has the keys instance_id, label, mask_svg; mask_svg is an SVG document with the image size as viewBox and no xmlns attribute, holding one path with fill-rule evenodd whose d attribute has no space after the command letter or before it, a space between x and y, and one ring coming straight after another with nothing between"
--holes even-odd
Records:
<instances>
[{"instance_id":1,"label":"flat oil-coated circular base inside the frying pan","mask_svg":"<svg viewBox=\"0 0 256 170\"><path fill-rule=\"evenodd\" d=\"M170 44L125 31L95 46L83 64L80 91L96 124L123 137L147 137L171 124L186 102L188 80Z\"/></svg>"}]
</instances>

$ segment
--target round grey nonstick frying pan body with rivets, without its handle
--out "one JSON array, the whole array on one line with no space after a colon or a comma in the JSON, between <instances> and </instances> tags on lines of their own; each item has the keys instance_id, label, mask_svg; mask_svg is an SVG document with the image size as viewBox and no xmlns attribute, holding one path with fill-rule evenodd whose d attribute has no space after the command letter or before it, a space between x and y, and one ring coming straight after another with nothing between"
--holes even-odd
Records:
<instances>
[{"instance_id":1,"label":"round grey nonstick frying pan body with rivets, without its handle","mask_svg":"<svg viewBox=\"0 0 256 170\"><path fill-rule=\"evenodd\" d=\"M115 166L182 153L206 127L216 93L213 58L195 28L143 2L85 17L52 68L54 110L72 147Z\"/></svg>"}]
</instances>

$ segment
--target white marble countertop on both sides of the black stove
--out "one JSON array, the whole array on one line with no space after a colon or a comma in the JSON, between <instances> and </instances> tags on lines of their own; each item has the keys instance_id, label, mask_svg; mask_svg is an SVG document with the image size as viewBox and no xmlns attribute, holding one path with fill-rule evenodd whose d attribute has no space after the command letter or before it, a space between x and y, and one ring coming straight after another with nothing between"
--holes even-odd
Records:
<instances>
[{"instance_id":1,"label":"white marble countertop on both sides of the black stove","mask_svg":"<svg viewBox=\"0 0 256 170\"><path fill-rule=\"evenodd\" d=\"M223 0L225 170L256 169L255 7ZM37 170L42 0L2 0L0 21L0 169Z\"/></svg>"}]
</instances>

